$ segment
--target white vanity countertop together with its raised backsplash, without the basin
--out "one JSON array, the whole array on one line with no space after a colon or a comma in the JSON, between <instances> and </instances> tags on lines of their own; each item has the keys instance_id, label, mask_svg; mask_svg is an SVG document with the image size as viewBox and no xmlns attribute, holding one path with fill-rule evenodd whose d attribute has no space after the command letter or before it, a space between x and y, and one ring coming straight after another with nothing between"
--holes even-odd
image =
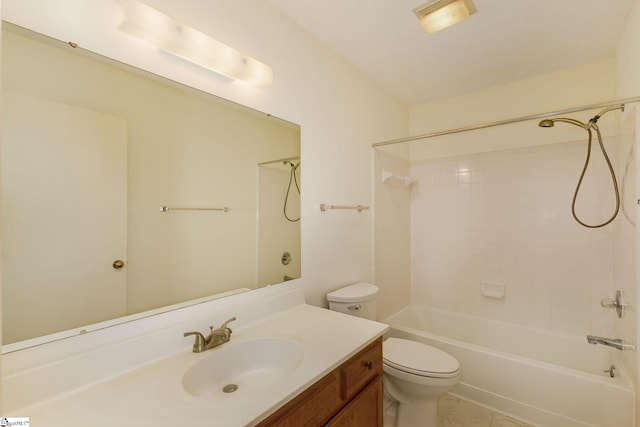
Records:
<instances>
[{"instance_id":1,"label":"white vanity countertop together with its raised backsplash, without the basin","mask_svg":"<svg viewBox=\"0 0 640 427\"><path fill-rule=\"evenodd\" d=\"M210 402L189 395L182 389L183 374L217 349L192 353L193 337L184 338L183 332L204 332L212 321L219 326L231 316L238 320L230 325L233 335L226 346L265 336L293 340L304 349L300 367L259 398L236 394ZM386 329L307 305L300 288L250 292L10 353L3 363L3 415L49 427L157 426L169 420L190 426L254 425ZM111 342L99 345L101 334L103 342ZM89 350L91 341L96 347ZM74 344L81 351L70 354ZM53 360L43 362L47 358Z\"/></svg>"}]
</instances>

